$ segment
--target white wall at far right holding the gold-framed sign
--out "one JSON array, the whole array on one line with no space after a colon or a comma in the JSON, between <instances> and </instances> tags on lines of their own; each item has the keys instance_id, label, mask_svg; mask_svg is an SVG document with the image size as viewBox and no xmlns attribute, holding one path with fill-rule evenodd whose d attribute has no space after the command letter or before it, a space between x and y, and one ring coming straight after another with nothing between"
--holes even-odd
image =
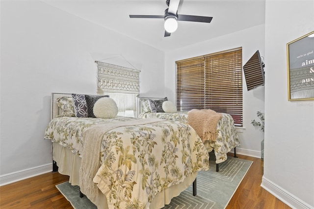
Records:
<instances>
[{"instance_id":1,"label":"white wall at far right holding the gold-framed sign","mask_svg":"<svg viewBox=\"0 0 314 209\"><path fill-rule=\"evenodd\" d=\"M265 14L262 186L293 208L313 209L314 101L288 101L286 47L288 42L314 31L314 1L266 0Z\"/></svg>"}]
</instances>

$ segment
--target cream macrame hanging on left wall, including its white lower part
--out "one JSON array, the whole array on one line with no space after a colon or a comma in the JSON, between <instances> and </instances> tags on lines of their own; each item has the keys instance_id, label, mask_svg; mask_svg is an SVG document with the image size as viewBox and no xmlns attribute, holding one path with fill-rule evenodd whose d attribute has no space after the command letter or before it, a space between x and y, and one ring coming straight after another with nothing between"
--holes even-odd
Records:
<instances>
[{"instance_id":1,"label":"cream macrame hanging on left wall, including its white lower part","mask_svg":"<svg viewBox=\"0 0 314 209\"><path fill-rule=\"evenodd\" d=\"M101 61L95 62L98 68L97 94L109 95L117 103L119 112L135 112L140 71Z\"/></svg>"}]
</instances>

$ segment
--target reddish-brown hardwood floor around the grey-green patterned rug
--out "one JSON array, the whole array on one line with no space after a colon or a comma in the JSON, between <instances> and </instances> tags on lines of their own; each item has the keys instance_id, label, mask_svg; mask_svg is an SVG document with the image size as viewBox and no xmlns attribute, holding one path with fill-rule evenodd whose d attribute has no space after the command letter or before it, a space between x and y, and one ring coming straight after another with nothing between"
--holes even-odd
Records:
<instances>
[{"instance_id":1,"label":"reddish-brown hardwood floor around the grey-green patterned rug","mask_svg":"<svg viewBox=\"0 0 314 209\"><path fill-rule=\"evenodd\" d=\"M230 153L230 156L233 154ZM237 156L252 160L253 164L226 209L290 209L260 186L263 161L255 157ZM68 176L47 173L1 186L0 209L72 209L71 204L55 187L68 180Z\"/></svg>"}]
</instances>

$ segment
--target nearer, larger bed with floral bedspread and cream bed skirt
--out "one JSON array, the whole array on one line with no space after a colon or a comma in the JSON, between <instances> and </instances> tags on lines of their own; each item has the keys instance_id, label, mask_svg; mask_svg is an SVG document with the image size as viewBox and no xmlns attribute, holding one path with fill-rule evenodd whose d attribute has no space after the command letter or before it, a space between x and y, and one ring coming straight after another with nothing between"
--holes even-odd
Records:
<instances>
[{"instance_id":1,"label":"nearer, larger bed with floral bedspread and cream bed skirt","mask_svg":"<svg viewBox=\"0 0 314 209\"><path fill-rule=\"evenodd\" d=\"M52 141L53 170L68 175L98 208L162 208L192 183L196 194L197 172L209 170L209 154L190 126L64 114L56 101L71 96L52 93L44 138Z\"/></svg>"}]
</instances>

